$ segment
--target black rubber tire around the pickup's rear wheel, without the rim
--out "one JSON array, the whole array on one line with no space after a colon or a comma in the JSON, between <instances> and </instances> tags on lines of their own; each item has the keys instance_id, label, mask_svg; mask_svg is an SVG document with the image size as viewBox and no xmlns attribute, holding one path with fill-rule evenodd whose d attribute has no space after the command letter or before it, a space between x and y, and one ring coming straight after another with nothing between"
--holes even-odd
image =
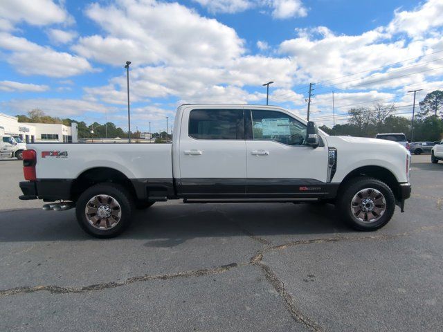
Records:
<instances>
[{"instance_id":1,"label":"black rubber tire around the pickup's rear wheel, without the rim","mask_svg":"<svg viewBox=\"0 0 443 332\"><path fill-rule=\"evenodd\" d=\"M121 218L120 221L114 228L110 230L98 230L94 228L89 221L87 220L86 215L84 214L84 208L86 207L89 199L93 196L106 194L118 201L121 208ZM106 183L106 184L98 184L89 187L85 190L79 197L77 203L75 204L75 214L77 216L77 221L80 224L80 227L87 233L91 234L93 237L98 237L102 239L116 237L118 234L121 234L131 223L132 212L134 203L132 203L131 196L125 190L124 187L120 185L116 185L114 183Z\"/></svg>"}]
</instances>

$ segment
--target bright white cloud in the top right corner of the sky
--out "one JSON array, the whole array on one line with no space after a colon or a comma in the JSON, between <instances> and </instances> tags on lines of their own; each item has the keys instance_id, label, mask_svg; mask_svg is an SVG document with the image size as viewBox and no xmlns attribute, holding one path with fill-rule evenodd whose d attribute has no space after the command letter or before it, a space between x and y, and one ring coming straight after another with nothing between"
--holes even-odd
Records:
<instances>
[{"instance_id":1,"label":"bright white cloud in the top right corner of the sky","mask_svg":"<svg viewBox=\"0 0 443 332\"><path fill-rule=\"evenodd\" d=\"M419 37L432 28L443 25L443 1L428 0L411 11L395 11L395 17L388 25L388 33L407 33Z\"/></svg>"}]
</instances>

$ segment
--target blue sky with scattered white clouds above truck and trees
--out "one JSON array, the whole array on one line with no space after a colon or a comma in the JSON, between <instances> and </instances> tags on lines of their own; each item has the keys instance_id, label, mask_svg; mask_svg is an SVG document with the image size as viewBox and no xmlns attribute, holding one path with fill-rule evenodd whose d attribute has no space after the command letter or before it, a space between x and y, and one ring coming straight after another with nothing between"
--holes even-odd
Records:
<instances>
[{"instance_id":1,"label":"blue sky with scattered white clouds above truck and trees","mask_svg":"<svg viewBox=\"0 0 443 332\"><path fill-rule=\"evenodd\" d=\"M443 88L442 32L440 0L3 0L0 112L125 128L130 60L142 131L183 102L262 104L269 80L270 103L302 117L316 82L320 124L332 125L332 91L338 114L395 102L409 116L408 90Z\"/></svg>"}]
</instances>

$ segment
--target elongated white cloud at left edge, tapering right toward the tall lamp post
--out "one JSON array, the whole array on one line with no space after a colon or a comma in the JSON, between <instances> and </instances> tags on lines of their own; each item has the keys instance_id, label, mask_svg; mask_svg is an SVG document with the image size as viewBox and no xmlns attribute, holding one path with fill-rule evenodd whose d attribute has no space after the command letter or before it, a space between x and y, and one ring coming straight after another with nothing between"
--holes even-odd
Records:
<instances>
[{"instance_id":1,"label":"elongated white cloud at left edge, tapering right toward the tall lamp post","mask_svg":"<svg viewBox=\"0 0 443 332\"><path fill-rule=\"evenodd\" d=\"M66 77L93 71L83 57L57 52L7 33L0 33L0 48L10 51L6 61L24 75Z\"/></svg>"}]
</instances>

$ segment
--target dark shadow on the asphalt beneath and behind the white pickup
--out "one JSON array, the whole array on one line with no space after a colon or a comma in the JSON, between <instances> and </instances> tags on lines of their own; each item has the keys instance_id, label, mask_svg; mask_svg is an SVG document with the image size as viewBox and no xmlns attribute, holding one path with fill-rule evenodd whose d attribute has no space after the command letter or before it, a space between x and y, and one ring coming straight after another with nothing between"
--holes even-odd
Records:
<instances>
[{"instance_id":1,"label":"dark shadow on the asphalt beneath and behind the white pickup","mask_svg":"<svg viewBox=\"0 0 443 332\"><path fill-rule=\"evenodd\" d=\"M159 203L136 211L116 239L145 239L145 246L172 247L197 237L260 237L279 234L351 232L335 218L333 205L292 203L183 204ZM0 212L0 242L93 240L75 220L74 210L39 209Z\"/></svg>"}]
</instances>

